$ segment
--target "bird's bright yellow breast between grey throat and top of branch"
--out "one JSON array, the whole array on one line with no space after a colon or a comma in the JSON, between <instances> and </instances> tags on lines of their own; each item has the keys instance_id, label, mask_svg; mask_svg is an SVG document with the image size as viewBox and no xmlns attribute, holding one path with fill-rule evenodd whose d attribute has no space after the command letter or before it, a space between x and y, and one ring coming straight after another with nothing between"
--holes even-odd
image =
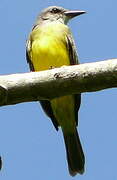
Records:
<instances>
[{"instance_id":1,"label":"bird's bright yellow breast between grey throat and top of branch","mask_svg":"<svg viewBox=\"0 0 117 180\"><path fill-rule=\"evenodd\" d=\"M31 61L35 71L70 64L65 28L65 25L51 24L32 33Z\"/></svg>"}]
</instances>

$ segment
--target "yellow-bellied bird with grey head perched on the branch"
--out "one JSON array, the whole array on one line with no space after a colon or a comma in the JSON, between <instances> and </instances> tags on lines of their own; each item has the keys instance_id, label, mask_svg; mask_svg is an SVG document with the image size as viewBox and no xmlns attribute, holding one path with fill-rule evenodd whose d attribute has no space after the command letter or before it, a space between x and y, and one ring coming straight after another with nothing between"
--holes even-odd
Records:
<instances>
[{"instance_id":1,"label":"yellow-bellied bird with grey head perched on the branch","mask_svg":"<svg viewBox=\"0 0 117 180\"><path fill-rule=\"evenodd\" d=\"M79 64L76 45L67 23L84 13L59 6L50 6L41 11L26 42L26 59L31 71ZM62 129L71 176L83 174L85 166L77 131L80 103L81 94L40 101L55 129Z\"/></svg>"}]
</instances>

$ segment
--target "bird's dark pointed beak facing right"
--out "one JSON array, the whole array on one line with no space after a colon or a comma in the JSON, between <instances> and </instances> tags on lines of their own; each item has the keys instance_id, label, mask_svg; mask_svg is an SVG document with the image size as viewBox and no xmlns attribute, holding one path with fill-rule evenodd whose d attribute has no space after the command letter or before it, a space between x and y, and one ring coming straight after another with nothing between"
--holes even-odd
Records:
<instances>
[{"instance_id":1,"label":"bird's dark pointed beak facing right","mask_svg":"<svg viewBox=\"0 0 117 180\"><path fill-rule=\"evenodd\" d=\"M79 10L76 10L76 11L65 11L64 14L68 17L68 18L74 18L76 16L79 16L81 14L84 14L86 13L86 11L79 11Z\"/></svg>"}]
</instances>

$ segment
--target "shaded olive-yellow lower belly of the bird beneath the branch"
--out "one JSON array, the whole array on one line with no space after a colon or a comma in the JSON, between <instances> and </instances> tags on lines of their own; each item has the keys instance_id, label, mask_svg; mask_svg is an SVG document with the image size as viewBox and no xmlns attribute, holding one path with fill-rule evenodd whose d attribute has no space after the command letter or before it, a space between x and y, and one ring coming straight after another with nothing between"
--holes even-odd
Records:
<instances>
[{"instance_id":1,"label":"shaded olive-yellow lower belly of the bird beneath the branch","mask_svg":"<svg viewBox=\"0 0 117 180\"><path fill-rule=\"evenodd\" d=\"M51 106L59 125L64 131L74 131L76 125L74 97L69 95L53 99L51 101Z\"/></svg>"}]
</instances>

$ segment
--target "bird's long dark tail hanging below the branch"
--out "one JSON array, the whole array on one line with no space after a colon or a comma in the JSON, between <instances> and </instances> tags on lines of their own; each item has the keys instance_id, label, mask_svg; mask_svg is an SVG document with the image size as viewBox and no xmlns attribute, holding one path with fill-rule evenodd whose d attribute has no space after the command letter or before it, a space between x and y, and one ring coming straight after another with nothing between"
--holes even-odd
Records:
<instances>
[{"instance_id":1,"label":"bird's long dark tail hanging below the branch","mask_svg":"<svg viewBox=\"0 0 117 180\"><path fill-rule=\"evenodd\" d=\"M77 173L83 174L85 157L77 129L72 134L68 134L63 131L63 135L70 175L75 176Z\"/></svg>"}]
</instances>

